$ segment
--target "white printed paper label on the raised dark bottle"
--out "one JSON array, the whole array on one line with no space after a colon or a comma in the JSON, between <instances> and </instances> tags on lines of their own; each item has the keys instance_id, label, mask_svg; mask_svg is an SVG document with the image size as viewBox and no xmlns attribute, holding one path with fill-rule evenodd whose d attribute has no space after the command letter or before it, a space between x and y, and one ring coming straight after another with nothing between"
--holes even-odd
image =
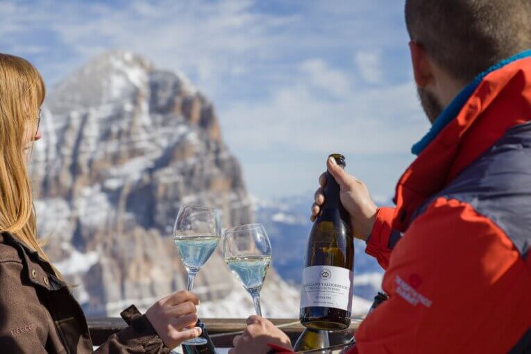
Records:
<instances>
[{"instance_id":1,"label":"white printed paper label on the raised dark bottle","mask_svg":"<svg viewBox=\"0 0 531 354\"><path fill-rule=\"evenodd\" d=\"M342 267L305 268L301 288L301 307L333 307L350 312L352 280L352 271Z\"/></svg>"}]
</instances>

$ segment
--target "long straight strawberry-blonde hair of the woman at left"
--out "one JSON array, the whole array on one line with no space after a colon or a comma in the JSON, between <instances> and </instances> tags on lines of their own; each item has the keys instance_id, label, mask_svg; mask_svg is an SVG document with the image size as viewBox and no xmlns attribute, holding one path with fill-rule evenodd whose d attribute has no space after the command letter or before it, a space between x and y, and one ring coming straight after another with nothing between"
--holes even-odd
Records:
<instances>
[{"instance_id":1,"label":"long straight strawberry-blonde hair of the woman at left","mask_svg":"<svg viewBox=\"0 0 531 354\"><path fill-rule=\"evenodd\" d=\"M0 231L17 236L48 260L37 242L24 144L37 133L44 81L27 60L0 53ZM33 138L33 135L31 138Z\"/></svg>"}]
</instances>

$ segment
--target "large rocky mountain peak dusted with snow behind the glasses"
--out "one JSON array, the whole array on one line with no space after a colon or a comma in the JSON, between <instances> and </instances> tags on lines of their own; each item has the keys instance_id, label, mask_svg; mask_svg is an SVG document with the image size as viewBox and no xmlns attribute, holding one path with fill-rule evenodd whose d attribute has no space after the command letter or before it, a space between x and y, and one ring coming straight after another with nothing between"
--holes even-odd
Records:
<instances>
[{"instance_id":1,"label":"large rocky mountain peak dusted with snow behind the glasses","mask_svg":"<svg viewBox=\"0 0 531 354\"><path fill-rule=\"evenodd\" d=\"M89 316L185 289L171 239L180 205L219 208L224 228L252 219L212 103L140 56L106 53L66 78L47 97L41 126L31 165L38 230ZM195 290L203 316L251 313L219 248ZM293 316L297 296L273 271L264 311Z\"/></svg>"}]
</instances>

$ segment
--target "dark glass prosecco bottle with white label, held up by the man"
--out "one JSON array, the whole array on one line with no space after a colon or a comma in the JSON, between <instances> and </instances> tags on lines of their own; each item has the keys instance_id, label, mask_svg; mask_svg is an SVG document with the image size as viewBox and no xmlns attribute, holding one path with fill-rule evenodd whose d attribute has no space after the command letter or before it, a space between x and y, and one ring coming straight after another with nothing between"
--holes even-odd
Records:
<instances>
[{"instance_id":1,"label":"dark glass prosecco bottle with white label, held up by the man","mask_svg":"<svg viewBox=\"0 0 531 354\"><path fill-rule=\"evenodd\" d=\"M345 158L333 154L337 165ZM316 330L344 330L351 324L354 241L339 185L326 172L325 203L308 239L301 289L301 323Z\"/></svg>"}]
</instances>

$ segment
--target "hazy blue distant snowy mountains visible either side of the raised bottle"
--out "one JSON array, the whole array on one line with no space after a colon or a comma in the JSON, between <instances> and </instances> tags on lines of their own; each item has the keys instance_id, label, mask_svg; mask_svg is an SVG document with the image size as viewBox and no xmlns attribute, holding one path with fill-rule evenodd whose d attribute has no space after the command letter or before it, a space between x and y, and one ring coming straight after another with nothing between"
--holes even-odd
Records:
<instances>
[{"instance_id":1,"label":"hazy blue distant snowy mountains visible either side of the raised bottle","mask_svg":"<svg viewBox=\"0 0 531 354\"><path fill-rule=\"evenodd\" d=\"M307 237L312 228L312 196L313 192L308 192L303 196L269 201L253 198L255 218L264 224L271 238L275 268L280 276L294 285L301 283ZM364 250L364 242L355 240L354 294L372 301L380 291L383 270Z\"/></svg>"}]
</instances>

